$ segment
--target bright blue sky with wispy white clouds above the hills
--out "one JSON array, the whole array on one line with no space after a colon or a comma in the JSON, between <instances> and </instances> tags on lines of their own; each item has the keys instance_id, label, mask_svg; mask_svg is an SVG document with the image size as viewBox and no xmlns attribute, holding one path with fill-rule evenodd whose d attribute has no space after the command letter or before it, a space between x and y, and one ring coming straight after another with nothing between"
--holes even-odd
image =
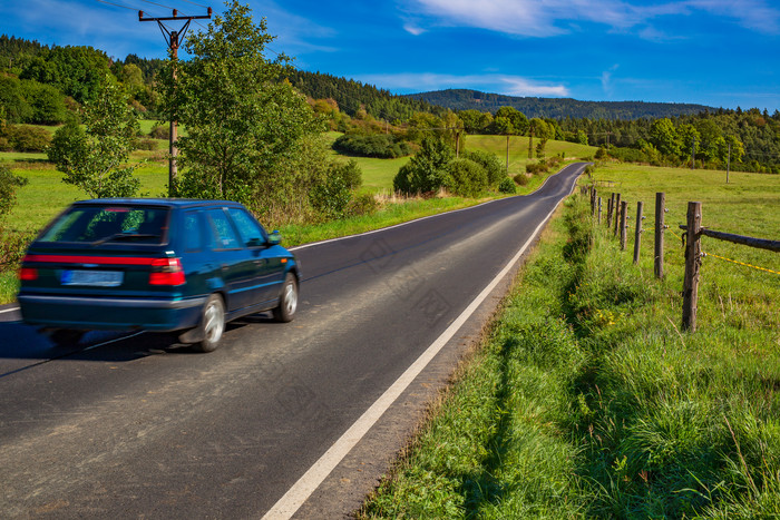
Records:
<instances>
[{"instance_id":1,"label":"bright blue sky with wispy white clouds above the hills","mask_svg":"<svg viewBox=\"0 0 780 520\"><path fill-rule=\"evenodd\" d=\"M0 0L0 32L164 58L147 16L207 0ZM470 88L582 100L780 109L778 0L244 0L304 70L407 94ZM204 22L206 23L206 22ZM172 28L176 22L172 23ZM193 26L201 29L199 26Z\"/></svg>"}]
</instances>

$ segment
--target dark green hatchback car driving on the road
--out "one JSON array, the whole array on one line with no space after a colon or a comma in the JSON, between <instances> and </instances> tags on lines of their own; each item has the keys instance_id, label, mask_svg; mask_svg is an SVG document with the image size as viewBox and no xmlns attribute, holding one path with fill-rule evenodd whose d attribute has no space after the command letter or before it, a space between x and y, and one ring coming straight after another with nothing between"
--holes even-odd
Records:
<instances>
[{"instance_id":1,"label":"dark green hatchback car driving on the road","mask_svg":"<svg viewBox=\"0 0 780 520\"><path fill-rule=\"evenodd\" d=\"M176 331L209 352L231 320L261 311L293 318L300 263L280 239L227 200L75 203L22 261L22 318L55 343L94 328Z\"/></svg>"}]
</instances>

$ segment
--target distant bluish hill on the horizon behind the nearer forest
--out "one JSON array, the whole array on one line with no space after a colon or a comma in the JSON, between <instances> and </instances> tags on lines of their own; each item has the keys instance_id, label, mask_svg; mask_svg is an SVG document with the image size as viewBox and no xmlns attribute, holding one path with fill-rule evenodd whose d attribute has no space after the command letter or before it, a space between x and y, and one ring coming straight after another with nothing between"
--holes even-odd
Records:
<instances>
[{"instance_id":1,"label":"distant bluish hill on the horizon behind the nearer forest","mask_svg":"<svg viewBox=\"0 0 780 520\"><path fill-rule=\"evenodd\" d=\"M571 98L521 98L478 90L448 89L433 92L409 94L406 97L452 110L475 109L495 112L500 107L514 107L526 117L552 119L622 119L664 118L691 116L715 111L713 107L691 104L645 101L578 101Z\"/></svg>"}]
</instances>

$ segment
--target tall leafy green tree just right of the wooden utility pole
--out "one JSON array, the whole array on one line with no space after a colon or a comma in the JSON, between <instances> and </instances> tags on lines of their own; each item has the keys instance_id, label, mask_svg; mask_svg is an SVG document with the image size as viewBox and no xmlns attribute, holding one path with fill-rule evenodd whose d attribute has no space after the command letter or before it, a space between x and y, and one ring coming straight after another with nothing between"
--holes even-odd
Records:
<instances>
[{"instance_id":1,"label":"tall leafy green tree just right of the wooden utility pole","mask_svg":"<svg viewBox=\"0 0 780 520\"><path fill-rule=\"evenodd\" d=\"M265 59L273 39L265 19L254 24L250 8L233 1L205 32L189 36L191 59L166 65L162 108L187 129L177 141L183 178L174 193L238 200L257 212L308 198L309 169L286 164L324 125L304 96L279 81L290 58Z\"/></svg>"}]
</instances>

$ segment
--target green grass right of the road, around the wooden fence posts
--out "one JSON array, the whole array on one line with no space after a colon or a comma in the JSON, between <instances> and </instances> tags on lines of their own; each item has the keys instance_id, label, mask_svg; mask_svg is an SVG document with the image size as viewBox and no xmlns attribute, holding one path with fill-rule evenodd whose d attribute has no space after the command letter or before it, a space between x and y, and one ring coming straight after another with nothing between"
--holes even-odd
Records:
<instances>
[{"instance_id":1,"label":"green grass right of the road, around the wooden fence posts","mask_svg":"<svg viewBox=\"0 0 780 520\"><path fill-rule=\"evenodd\" d=\"M596 176L646 203L660 187L713 205L722 192L708 176L675 187L679 170L610 168ZM740 180L749 209L721 205L712 220L749 215L777 233L777 180ZM682 251L667 241L656 281L649 241L633 265L583 197L567 200L360 517L778 518L780 278L705 258L699 331L682 333Z\"/></svg>"}]
</instances>

